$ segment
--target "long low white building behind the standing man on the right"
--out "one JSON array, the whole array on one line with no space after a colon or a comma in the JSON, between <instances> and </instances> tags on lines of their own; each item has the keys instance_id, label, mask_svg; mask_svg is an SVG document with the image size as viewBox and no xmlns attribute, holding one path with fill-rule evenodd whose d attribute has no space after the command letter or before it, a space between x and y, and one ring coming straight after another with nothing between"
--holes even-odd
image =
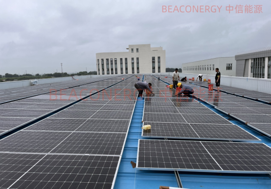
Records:
<instances>
[{"instance_id":1,"label":"long low white building behind the standing man on the right","mask_svg":"<svg viewBox=\"0 0 271 189\"><path fill-rule=\"evenodd\" d=\"M209 74L215 75L215 68L219 68L221 75L235 76L236 61L235 57L219 57L182 64L182 73Z\"/></svg>"}]
</instances>

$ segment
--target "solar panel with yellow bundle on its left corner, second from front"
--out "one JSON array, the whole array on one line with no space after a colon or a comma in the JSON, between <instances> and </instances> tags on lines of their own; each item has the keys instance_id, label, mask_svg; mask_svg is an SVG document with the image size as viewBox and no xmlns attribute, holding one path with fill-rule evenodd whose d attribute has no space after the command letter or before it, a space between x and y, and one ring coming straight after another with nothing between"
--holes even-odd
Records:
<instances>
[{"instance_id":1,"label":"solar panel with yellow bundle on its left corner, second from front","mask_svg":"<svg viewBox=\"0 0 271 189\"><path fill-rule=\"evenodd\" d=\"M143 137L258 141L259 139L236 125L185 124L144 122L150 130L142 130Z\"/></svg>"}]
</instances>

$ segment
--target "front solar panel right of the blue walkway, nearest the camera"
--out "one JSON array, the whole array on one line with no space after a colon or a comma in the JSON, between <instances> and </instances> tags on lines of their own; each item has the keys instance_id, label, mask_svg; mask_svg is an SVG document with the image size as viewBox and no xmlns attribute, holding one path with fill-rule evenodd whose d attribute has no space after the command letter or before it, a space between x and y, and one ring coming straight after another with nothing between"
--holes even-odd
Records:
<instances>
[{"instance_id":1,"label":"front solar panel right of the blue walkway, nearest the camera","mask_svg":"<svg viewBox=\"0 0 271 189\"><path fill-rule=\"evenodd\" d=\"M136 168L271 173L270 159L263 143L139 140Z\"/></svg>"}]
</instances>

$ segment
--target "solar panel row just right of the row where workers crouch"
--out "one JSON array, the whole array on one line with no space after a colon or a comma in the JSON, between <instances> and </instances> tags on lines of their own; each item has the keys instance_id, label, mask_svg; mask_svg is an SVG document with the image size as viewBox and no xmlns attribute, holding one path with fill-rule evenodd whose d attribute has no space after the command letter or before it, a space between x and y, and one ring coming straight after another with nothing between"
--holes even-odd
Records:
<instances>
[{"instance_id":1,"label":"solar panel row just right of the row where workers crouch","mask_svg":"<svg viewBox=\"0 0 271 189\"><path fill-rule=\"evenodd\" d=\"M201 85L204 86L206 84ZM221 87L226 92L229 92L226 86ZM271 105L244 99L224 92L217 93L215 91L208 91L207 88L201 88L202 89L194 95L195 97L210 105L214 105L217 109L235 117L261 133L271 136Z\"/></svg>"}]
</instances>

